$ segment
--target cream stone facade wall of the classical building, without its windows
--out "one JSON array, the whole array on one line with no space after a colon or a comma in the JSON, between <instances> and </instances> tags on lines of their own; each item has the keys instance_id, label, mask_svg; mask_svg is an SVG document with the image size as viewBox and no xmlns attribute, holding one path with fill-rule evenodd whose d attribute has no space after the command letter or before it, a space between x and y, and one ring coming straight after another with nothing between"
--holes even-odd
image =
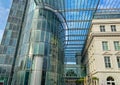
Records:
<instances>
[{"instance_id":1,"label":"cream stone facade wall of the classical building, without its windows","mask_svg":"<svg viewBox=\"0 0 120 85\"><path fill-rule=\"evenodd\" d=\"M107 77L112 76L115 85L120 85L120 68L116 59L120 51L114 49L114 41L120 41L120 19L99 19L92 23L84 51L87 76L99 78L99 85L107 85ZM106 32L100 32L100 25L105 25ZM111 32L111 25L116 25L116 32ZM108 51L103 51L102 41L108 41ZM105 67L104 56L110 56L111 68Z\"/></svg>"}]
</instances>

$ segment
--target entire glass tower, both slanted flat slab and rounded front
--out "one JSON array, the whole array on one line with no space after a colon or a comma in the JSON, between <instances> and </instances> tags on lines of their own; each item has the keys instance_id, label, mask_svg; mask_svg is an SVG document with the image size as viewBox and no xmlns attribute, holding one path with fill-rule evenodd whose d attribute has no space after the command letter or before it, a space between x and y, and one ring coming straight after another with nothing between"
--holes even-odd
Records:
<instances>
[{"instance_id":1,"label":"entire glass tower, both slanted flat slab and rounded front","mask_svg":"<svg viewBox=\"0 0 120 85\"><path fill-rule=\"evenodd\" d=\"M56 11L62 5L13 0L0 46L2 84L63 85L65 24Z\"/></svg>"}]
</instances>

